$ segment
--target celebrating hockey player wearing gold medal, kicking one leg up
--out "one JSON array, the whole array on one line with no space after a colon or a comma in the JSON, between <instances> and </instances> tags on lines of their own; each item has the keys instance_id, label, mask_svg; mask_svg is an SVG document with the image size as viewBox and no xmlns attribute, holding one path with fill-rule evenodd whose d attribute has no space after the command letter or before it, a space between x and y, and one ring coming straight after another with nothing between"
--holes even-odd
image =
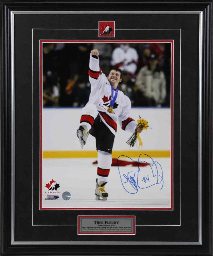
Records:
<instances>
[{"instance_id":1,"label":"celebrating hockey player wearing gold medal, kicking one leg up","mask_svg":"<svg viewBox=\"0 0 213 256\"><path fill-rule=\"evenodd\" d=\"M98 170L96 179L96 200L107 201L105 185L108 182L112 163L112 147L117 130L117 121L125 131L140 133L142 129L129 117L131 102L122 91L118 91L122 71L113 68L106 77L99 66L99 51L94 49L90 54L89 80L91 83L90 98L82 109L80 127L77 136L81 147L85 145L89 134L96 138L98 151Z\"/></svg>"}]
</instances>

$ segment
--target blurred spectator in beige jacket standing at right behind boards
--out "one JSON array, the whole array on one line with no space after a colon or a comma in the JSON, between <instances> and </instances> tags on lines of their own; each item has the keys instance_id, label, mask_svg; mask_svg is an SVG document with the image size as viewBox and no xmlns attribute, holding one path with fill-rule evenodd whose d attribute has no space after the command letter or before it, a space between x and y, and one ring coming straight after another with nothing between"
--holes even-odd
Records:
<instances>
[{"instance_id":1,"label":"blurred spectator in beige jacket standing at right behind boards","mask_svg":"<svg viewBox=\"0 0 213 256\"><path fill-rule=\"evenodd\" d=\"M136 76L137 105L160 107L166 98L165 76L159 68L156 54L152 53L148 62L148 65L141 68Z\"/></svg>"}]
</instances>

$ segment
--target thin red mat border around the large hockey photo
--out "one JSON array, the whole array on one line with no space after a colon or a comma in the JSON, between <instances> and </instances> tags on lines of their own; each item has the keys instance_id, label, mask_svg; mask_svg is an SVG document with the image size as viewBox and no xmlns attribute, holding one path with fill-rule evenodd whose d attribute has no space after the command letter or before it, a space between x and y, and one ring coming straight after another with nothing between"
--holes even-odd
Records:
<instances>
[{"instance_id":1,"label":"thin red mat border around the large hockey photo","mask_svg":"<svg viewBox=\"0 0 213 256\"><path fill-rule=\"evenodd\" d=\"M42 43L171 43L171 205L169 208L43 208L42 207ZM173 210L173 40L40 40L40 210Z\"/></svg>"}]
</instances>

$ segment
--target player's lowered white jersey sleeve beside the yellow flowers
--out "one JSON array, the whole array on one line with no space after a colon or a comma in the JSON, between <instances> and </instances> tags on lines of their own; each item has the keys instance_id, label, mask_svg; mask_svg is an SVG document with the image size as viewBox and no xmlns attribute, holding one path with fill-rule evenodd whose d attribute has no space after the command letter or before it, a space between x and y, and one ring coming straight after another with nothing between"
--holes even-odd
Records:
<instances>
[{"instance_id":1,"label":"player's lowered white jersey sleeve beside the yellow flowers","mask_svg":"<svg viewBox=\"0 0 213 256\"><path fill-rule=\"evenodd\" d=\"M123 110L121 114L118 116L118 121L119 121L120 127L124 131L134 133L137 123L134 121L133 118L130 117L131 101L127 96L125 96L124 101L125 103L123 106Z\"/></svg>"}]
</instances>

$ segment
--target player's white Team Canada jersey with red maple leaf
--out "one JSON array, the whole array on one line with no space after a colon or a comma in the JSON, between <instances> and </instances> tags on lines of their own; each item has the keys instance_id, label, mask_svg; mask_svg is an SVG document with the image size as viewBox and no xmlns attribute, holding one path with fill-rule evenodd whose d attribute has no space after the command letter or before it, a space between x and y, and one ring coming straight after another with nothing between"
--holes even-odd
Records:
<instances>
[{"instance_id":1,"label":"player's white Team Canada jersey with red maple leaf","mask_svg":"<svg viewBox=\"0 0 213 256\"><path fill-rule=\"evenodd\" d=\"M88 104L94 104L97 107L101 120L114 135L117 131L117 121L123 130L134 133L137 123L129 116L131 102L122 91L118 90L113 113L107 112L110 106L111 85L105 74L101 71L99 57L96 57L90 54L88 74L91 83L91 93Z\"/></svg>"}]
</instances>

